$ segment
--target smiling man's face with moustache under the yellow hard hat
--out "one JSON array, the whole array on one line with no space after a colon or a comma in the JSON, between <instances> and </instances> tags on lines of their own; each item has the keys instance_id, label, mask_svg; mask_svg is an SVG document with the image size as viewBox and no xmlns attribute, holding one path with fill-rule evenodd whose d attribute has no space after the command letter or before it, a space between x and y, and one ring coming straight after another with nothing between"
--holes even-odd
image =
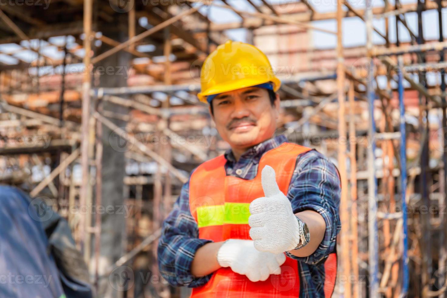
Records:
<instances>
[{"instance_id":1,"label":"smiling man's face with moustache under the yellow hard hat","mask_svg":"<svg viewBox=\"0 0 447 298\"><path fill-rule=\"evenodd\" d=\"M221 93L211 104L216 128L232 148L253 147L270 139L276 129L279 97L276 96L272 106L264 88L247 87Z\"/></svg>"}]
</instances>

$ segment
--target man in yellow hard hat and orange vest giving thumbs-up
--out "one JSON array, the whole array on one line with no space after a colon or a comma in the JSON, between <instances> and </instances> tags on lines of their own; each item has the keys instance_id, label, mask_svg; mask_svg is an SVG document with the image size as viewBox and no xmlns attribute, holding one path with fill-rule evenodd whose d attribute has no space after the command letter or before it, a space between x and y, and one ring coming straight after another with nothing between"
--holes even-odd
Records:
<instances>
[{"instance_id":1,"label":"man in yellow hard hat and orange vest giving thumbs-up","mask_svg":"<svg viewBox=\"0 0 447 298\"><path fill-rule=\"evenodd\" d=\"M324 155L274 137L281 82L255 46L205 60L198 98L231 149L192 171L165 219L160 273L192 297L330 297L340 178Z\"/></svg>"}]
</instances>

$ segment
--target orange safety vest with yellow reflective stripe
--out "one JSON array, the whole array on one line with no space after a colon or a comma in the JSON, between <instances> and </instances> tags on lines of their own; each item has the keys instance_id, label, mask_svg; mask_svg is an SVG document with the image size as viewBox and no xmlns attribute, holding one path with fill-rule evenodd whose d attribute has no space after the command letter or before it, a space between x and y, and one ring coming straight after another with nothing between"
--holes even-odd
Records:
<instances>
[{"instance_id":1,"label":"orange safety vest with yellow reflective stripe","mask_svg":"<svg viewBox=\"0 0 447 298\"><path fill-rule=\"evenodd\" d=\"M287 194L295 169L296 158L311 148L282 143L262 155L253 180L227 176L227 162L219 155L203 164L190 178L190 210L198 224L198 237L214 242L226 239L251 239L248 224L250 202L264 197L261 170L270 165L276 172L279 189ZM330 297L337 273L337 255L325 260L325 297ZM191 297L299 297L298 261L287 258L280 275L270 275L266 281L250 281L229 267L216 270L210 281L194 288Z\"/></svg>"}]
</instances>

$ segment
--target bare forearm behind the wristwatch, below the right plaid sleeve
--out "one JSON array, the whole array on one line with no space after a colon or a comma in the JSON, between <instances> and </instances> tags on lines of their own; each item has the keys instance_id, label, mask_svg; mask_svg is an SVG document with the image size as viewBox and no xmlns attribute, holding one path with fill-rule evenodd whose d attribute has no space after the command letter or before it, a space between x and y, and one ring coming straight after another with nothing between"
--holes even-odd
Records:
<instances>
[{"instance_id":1,"label":"bare forearm behind the wristwatch, below the right plaid sleeve","mask_svg":"<svg viewBox=\"0 0 447 298\"><path fill-rule=\"evenodd\" d=\"M289 252L298 257L310 256L316 251L321 241L323 241L326 231L325 220L318 212L313 210L304 210L295 213L295 215L303 222L306 222L309 228L310 241L304 248L291 250Z\"/></svg>"}]
</instances>

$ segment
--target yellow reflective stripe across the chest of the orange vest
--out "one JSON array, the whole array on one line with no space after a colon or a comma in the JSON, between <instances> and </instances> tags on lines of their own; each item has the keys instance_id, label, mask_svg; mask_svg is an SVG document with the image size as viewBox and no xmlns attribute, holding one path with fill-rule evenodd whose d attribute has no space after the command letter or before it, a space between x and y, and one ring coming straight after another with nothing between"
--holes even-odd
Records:
<instances>
[{"instance_id":1,"label":"yellow reflective stripe across the chest of the orange vest","mask_svg":"<svg viewBox=\"0 0 447 298\"><path fill-rule=\"evenodd\" d=\"M220 226L225 223L249 223L250 203L225 202L224 205L197 207L198 227Z\"/></svg>"}]
</instances>

